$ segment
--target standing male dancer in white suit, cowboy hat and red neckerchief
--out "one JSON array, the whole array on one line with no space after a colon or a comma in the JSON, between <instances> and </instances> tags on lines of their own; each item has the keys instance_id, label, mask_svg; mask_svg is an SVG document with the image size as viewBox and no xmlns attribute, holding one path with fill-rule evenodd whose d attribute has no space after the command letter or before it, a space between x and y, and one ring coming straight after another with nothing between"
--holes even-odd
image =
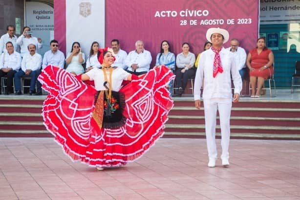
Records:
<instances>
[{"instance_id":1,"label":"standing male dancer in white suit, cowboy hat and red neckerchief","mask_svg":"<svg viewBox=\"0 0 300 200\"><path fill-rule=\"evenodd\" d=\"M213 46L201 54L195 76L194 100L196 109L200 109L200 89L204 79L203 103L205 114L205 133L209 162L215 167L217 150L215 144L216 111L219 111L222 145L222 165L229 166L230 112L232 101L238 102L242 89L242 80L236 67L234 54L223 47L229 39L229 33L221 28L209 28L206 38ZM235 92L232 100L231 77Z\"/></svg>"}]
</instances>

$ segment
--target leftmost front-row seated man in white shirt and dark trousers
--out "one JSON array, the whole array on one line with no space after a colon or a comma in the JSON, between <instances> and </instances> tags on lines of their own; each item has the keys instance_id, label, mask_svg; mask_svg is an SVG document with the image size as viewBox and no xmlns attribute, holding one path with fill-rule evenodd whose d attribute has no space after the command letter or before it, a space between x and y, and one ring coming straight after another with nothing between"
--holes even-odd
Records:
<instances>
[{"instance_id":1,"label":"leftmost front-row seated man in white shirt and dark trousers","mask_svg":"<svg viewBox=\"0 0 300 200\"><path fill-rule=\"evenodd\" d=\"M14 50L12 42L6 43L6 52L0 56L0 78L7 77L7 85L5 94L13 93L13 78L14 75L21 68L21 55ZM0 82L1 86L1 82ZM0 90L1 93L1 90Z\"/></svg>"}]
</instances>

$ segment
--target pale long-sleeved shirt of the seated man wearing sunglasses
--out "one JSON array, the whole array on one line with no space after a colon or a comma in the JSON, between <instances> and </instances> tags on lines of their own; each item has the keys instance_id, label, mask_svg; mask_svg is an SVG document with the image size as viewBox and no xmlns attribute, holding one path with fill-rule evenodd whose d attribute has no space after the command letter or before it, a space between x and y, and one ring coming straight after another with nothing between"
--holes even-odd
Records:
<instances>
[{"instance_id":1,"label":"pale long-sleeved shirt of the seated man wearing sunglasses","mask_svg":"<svg viewBox=\"0 0 300 200\"><path fill-rule=\"evenodd\" d=\"M48 65L53 65L63 69L64 59L64 53L62 51L57 50L53 53L52 50L49 50L44 54L42 68L44 69Z\"/></svg>"}]
</instances>

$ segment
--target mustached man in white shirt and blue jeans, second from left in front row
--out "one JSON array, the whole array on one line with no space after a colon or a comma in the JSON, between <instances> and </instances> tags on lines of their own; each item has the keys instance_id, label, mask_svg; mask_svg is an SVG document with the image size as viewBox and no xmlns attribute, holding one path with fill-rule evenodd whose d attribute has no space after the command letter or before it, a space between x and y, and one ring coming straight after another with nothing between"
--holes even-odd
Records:
<instances>
[{"instance_id":1,"label":"mustached man in white shirt and blue jeans, second from left in front row","mask_svg":"<svg viewBox=\"0 0 300 200\"><path fill-rule=\"evenodd\" d=\"M36 53L36 45L29 44L28 45L29 53L26 53L23 56L22 63L21 63L21 70L15 73L15 90L16 95L20 95L21 93L21 77L23 75L28 75L31 77L30 80L30 88L29 88L29 95L34 93L35 91L35 84L37 80L37 71L41 68L42 65L42 56Z\"/></svg>"}]
</instances>

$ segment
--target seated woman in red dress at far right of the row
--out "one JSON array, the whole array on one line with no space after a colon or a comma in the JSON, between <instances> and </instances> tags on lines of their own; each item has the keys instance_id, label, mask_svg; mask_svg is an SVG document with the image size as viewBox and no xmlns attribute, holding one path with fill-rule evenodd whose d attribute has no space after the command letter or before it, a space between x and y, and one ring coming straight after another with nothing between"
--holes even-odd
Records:
<instances>
[{"instance_id":1,"label":"seated woman in red dress at far right of the row","mask_svg":"<svg viewBox=\"0 0 300 200\"><path fill-rule=\"evenodd\" d=\"M259 97L265 79L274 74L274 54L266 47L265 38L257 39L257 47L252 49L246 60L250 70L251 97Z\"/></svg>"}]
</instances>

